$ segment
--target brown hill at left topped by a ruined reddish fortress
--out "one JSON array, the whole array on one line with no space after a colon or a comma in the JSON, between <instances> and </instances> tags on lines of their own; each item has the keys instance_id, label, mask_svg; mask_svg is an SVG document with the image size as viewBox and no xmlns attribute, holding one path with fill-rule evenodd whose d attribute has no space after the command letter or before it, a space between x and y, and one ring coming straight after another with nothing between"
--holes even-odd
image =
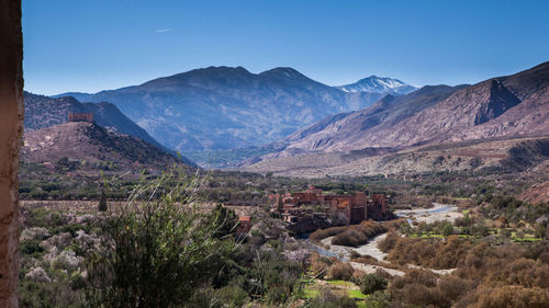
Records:
<instances>
[{"instance_id":1,"label":"brown hill at left topped by a ruined reddish fortress","mask_svg":"<svg viewBox=\"0 0 549 308\"><path fill-rule=\"evenodd\" d=\"M178 163L173 156L138 138L121 135L92 123L71 122L25 132L21 159L55 164L77 162L78 168L110 166L121 171L161 171Z\"/></svg>"}]
</instances>

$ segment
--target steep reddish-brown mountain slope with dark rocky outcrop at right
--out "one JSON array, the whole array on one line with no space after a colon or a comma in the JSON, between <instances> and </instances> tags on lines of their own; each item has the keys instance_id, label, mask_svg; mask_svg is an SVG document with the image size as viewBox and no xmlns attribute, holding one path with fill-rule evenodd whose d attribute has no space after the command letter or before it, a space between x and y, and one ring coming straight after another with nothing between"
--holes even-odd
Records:
<instances>
[{"instance_id":1,"label":"steep reddish-brown mountain slope with dark rocky outcrop at right","mask_svg":"<svg viewBox=\"0 0 549 308\"><path fill-rule=\"evenodd\" d=\"M547 135L549 62L471 87L424 87L400 98L385 96L328 122L279 142L283 146L276 156Z\"/></svg>"}]
</instances>

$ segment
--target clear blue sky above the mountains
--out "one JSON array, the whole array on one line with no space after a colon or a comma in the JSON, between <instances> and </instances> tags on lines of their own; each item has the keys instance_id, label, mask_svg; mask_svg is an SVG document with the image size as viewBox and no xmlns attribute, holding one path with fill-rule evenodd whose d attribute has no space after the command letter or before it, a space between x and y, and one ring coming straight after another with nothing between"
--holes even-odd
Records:
<instances>
[{"instance_id":1,"label":"clear blue sky above the mountains","mask_svg":"<svg viewBox=\"0 0 549 308\"><path fill-rule=\"evenodd\" d=\"M97 92L208 66L474 83L549 60L549 1L23 0L25 89Z\"/></svg>"}]
</instances>

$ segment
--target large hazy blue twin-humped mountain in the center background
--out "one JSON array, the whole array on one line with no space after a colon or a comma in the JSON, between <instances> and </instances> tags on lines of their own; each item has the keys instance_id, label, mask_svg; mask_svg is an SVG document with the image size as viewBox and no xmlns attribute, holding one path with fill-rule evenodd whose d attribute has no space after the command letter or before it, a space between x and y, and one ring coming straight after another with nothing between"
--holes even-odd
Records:
<instances>
[{"instance_id":1,"label":"large hazy blue twin-humped mountain in the center background","mask_svg":"<svg viewBox=\"0 0 549 308\"><path fill-rule=\"evenodd\" d=\"M292 68L251 73L209 67L96 94L67 94L112 102L163 145L187 151L261 146L326 116L363 109L384 92L345 92Z\"/></svg>"}]
</instances>

